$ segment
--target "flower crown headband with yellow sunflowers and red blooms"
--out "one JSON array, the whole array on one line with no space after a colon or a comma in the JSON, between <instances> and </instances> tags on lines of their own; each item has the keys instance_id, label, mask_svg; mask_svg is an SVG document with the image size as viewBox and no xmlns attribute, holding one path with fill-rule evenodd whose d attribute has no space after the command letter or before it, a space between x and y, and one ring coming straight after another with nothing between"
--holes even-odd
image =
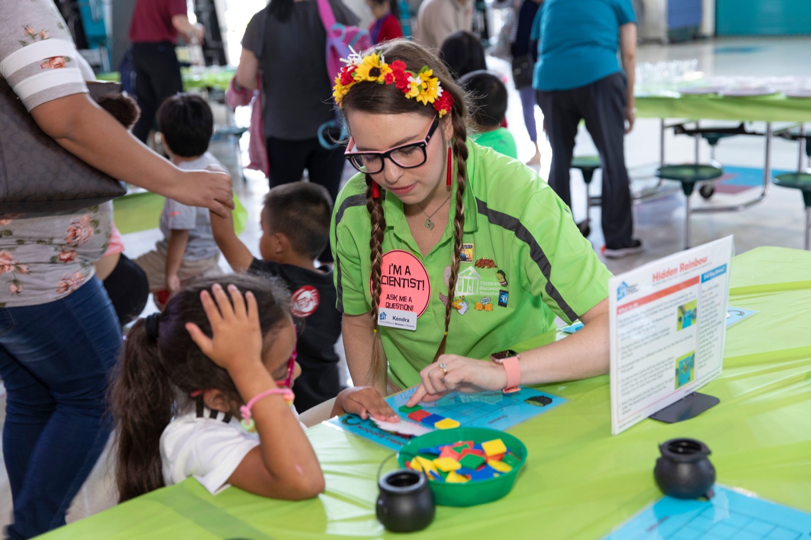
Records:
<instances>
[{"instance_id":1,"label":"flower crown headband with yellow sunflowers and red blooms","mask_svg":"<svg viewBox=\"0 0 811 540\"><path fill-rule=\"evenodd\" d=\"M407 99L413 97L423 105L431 103L442 118L453 107L453 96L445 92L440 79L434 77L434 71L423 66L418 73L405 69L405 62L395 60L387 64L380 53L367 54L361 57L352 51L349 59L341 58L346 65L335 77L333 97L341 107L341 101L355 84L369 81L377 84L394 84L402 90Z\"/></svg>"}]
</instances>

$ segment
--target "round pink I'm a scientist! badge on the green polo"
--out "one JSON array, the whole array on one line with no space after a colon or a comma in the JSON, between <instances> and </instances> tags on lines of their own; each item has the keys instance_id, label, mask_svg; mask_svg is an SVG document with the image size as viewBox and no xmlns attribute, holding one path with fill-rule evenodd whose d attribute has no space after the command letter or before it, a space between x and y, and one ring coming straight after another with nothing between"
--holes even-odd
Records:
<instances>
[{"instance_id":1,"label":"round pink I'm a scientist! badge on the green polo","mask_svg":"<svg viewBox=\"0 0 811 540\"><path fill-rule=\"evenodd\" d=\"M431 281L419 259L403 250L383 254L383 264L380 265L380 308L412 311L419 317L425 312L430 298Z\"/></svg>"}]
</instances>

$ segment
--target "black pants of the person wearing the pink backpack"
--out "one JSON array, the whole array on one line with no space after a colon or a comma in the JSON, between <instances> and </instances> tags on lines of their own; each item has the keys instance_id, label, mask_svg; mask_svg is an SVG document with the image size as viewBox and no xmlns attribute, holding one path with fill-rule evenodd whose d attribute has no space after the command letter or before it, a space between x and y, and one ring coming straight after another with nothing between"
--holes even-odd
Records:
<instances>
[{"instance_id":1,"label":"black pants of the person wearing the pink backpack","mask_svg":"<svg viewBox=\"0 0 811 540\"><path fill-rule=\"evenodd\" d=\"M341 186L341 173L344 170L343 146L327 150L317 138L288 140L268 137L268 165L270 166L270 186L281 186L302 179L304 169L310 174L310 182L327 188L333 203ZM319 257L324 263L333 261L333 254L326 247Z\"/></svg>"}]
</instances>

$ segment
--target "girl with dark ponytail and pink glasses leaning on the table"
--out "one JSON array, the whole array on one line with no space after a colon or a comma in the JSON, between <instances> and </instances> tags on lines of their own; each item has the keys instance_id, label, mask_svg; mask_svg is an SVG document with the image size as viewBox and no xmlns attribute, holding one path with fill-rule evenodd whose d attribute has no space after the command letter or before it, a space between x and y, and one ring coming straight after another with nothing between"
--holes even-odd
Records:
<instances>
[{"instance_id":1,"label":"girl with dark ponytail and pink glasses leaning on the table","mask_svg":"<svg viewBox=\"0 0 811 540\"><path fill-rule=\"evenodd\" d=\"M122 502L191 476L212 495L230 485L274 499L324 491L291 406L301 369L290 294L272 279L221 279L181 289L127 335L110 396ZM332 414L345 412L394 415L357 387L336 398Z\"/></svg>"}]
</instances>

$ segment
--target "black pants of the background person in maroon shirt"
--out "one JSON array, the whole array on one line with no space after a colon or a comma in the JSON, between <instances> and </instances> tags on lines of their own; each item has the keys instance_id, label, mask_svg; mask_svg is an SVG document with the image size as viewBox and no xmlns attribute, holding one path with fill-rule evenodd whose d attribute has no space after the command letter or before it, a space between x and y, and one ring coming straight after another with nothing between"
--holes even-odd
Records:
<instances>
[{"instance_id":1,"label":"black pants of the background person in maroon shirt","mask_svg":"<svg viewBox=\"0 0 811 540\"><path fill-rule=\"evenodd\" d=\"M141 108L141 117L135 122L132 134L145 143L161 103L183 91L180 64L174 54L174 45L161 41L134 43L132 67L135 70L135 98Z\"/></svg>"}]
</instances>

